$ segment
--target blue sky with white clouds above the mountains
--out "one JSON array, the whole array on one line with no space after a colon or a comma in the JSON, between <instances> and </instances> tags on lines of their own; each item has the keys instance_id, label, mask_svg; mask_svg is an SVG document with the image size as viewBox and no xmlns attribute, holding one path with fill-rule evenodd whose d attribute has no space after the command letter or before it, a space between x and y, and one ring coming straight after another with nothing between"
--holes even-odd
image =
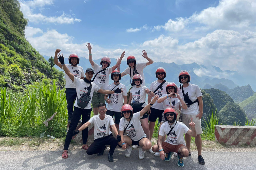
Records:
<instances>
[{"instance_id":1,"label":"blue sky with white clouds above the mountains","mask_svg":"<svg viewBox=\"0 0 256 170\"><path fill-rule=\"evenodd\" d=\"M90 42L95 59L117 58L125 50L124 60L134 55L145 61L145 49L155 62L196 62L256 78L255 0L19 2L29 19L26 38L42 55L60 48L64 56L88 58ZM194 71L220 78L210 67Z\"/></svg>"}]
</instances>

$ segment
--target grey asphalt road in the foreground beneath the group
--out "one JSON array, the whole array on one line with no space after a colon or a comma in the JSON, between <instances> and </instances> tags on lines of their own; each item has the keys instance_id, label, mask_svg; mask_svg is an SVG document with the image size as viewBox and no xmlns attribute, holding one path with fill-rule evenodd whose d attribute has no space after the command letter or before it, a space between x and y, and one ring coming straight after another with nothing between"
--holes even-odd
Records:
<instances>
[{"instance_id":1,"label":"grey asphalt road in the foreground beneath the group","mask_svg":"<svg viewBox=\"0 0 256 170\"><path fill-rule=\"evenodd\" d=\"M226 169L226 170L255 170L255 152L203 152L205 165L197 161L197 152L184 158L184 167L177 166L177 157L172 156L169 162L162 161L149 152L143 160L138 158L138 150L133 150L131 157L124 156L125 151L115 150L114 162L109 162L105 150L104 155L87 155L84 150L69 151L68 159L61 157L62 151L1 151L0 169L115 169L115 170L149 170L149 169Z\"/></svg>"}]
</instances>

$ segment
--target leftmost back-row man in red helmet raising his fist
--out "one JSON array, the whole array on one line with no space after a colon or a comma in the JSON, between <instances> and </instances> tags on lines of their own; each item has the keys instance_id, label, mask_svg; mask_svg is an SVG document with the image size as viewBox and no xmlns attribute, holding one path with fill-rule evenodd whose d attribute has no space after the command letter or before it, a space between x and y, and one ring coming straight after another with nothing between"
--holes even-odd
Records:
<instances>
[{"instance_id":1,"label":"leftmost back-row man in red helmet raising his fist","mask_svg":"<svg viewBox=\"0 0 256 170\"><path fill-rule=\"evenodd\" d=\"M58 60L58 53L60 52L60 49L55 50L54 55L54 63L59 66L61 69L62 65ZM79 64L79 56L76 53L72 53L68 57L69 64L66 64L69 71L76 77L84 79L84 70L81 66L78 66ZM73 106L74 101L76 100L76 86L74 85L74 82L67 76L65 73L65 79L66 79L66 85L65 85L65 93L66 93L66 100L67 100L67 109L68 109L68 123L71 122L72 114L73 114Z\"/></svg>"}]
</instances>

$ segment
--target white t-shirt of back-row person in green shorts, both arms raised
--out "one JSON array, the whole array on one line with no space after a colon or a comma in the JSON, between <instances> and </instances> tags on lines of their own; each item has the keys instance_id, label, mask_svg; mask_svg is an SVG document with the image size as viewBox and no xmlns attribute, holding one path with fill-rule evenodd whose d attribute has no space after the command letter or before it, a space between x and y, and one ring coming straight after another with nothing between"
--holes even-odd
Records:
<instances>
[{"instance_id":1,"label":"white t-shirt of back-row person in green shorts, both arms raised","mask_svg":"<svg viewBox=\"0 0 256 170\"><path fill-rule=\"evenodd\" d=\"M102 70L103 68L94 62L93 67L95 74ZM101 71L97 74L96 78L93 80L101 89L106 90L108 86L108 77L112 72L112 67L107 67L105 71ZM93 77L94 78L94 77Z\"/></svg>"}]
</instances>

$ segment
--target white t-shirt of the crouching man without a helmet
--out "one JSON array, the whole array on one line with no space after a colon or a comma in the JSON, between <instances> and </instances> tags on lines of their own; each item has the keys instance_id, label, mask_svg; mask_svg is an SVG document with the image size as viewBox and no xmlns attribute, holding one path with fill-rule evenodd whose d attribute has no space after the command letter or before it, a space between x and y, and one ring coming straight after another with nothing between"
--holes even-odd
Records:
<instances>
[{"instance_id":1,"label":"white t-shirt of the crouching man without a helmet","mask_svg":"<svg viewBox=\"0 0 256 170\"><path fill-rule=\"evenodd\" d=\"M115 125L113 118L109 115L105 115L103 120L100 119L100 115L94 115L88 122L94 125L94 139L110 135L109 127Z\"/></svg>"}]
</instances>

